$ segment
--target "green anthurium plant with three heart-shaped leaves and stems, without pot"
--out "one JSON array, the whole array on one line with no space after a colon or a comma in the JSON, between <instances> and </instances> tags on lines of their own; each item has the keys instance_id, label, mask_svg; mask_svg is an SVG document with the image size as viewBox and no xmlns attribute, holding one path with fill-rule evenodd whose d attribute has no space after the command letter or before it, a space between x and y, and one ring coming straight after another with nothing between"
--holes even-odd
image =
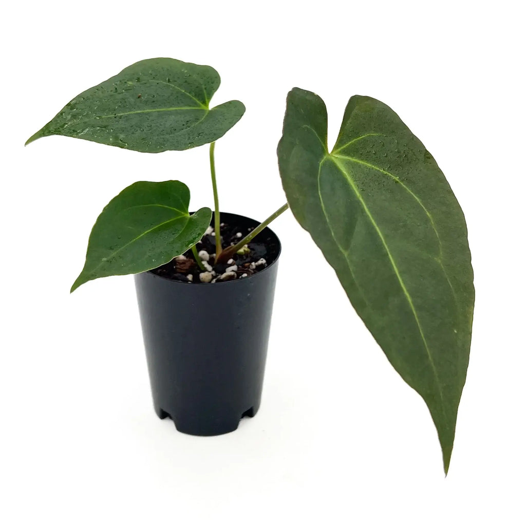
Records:
<instances>
[{"instance_id":1,"label":"green anthurium plant with three heart-shaped leaves and stems, without pot","mask_svg":"<svg viewBox=\"0 0 526 526\"><path fill-rule=\"evenodd\" d=\"M245 106L231 100L210 107L219 83L209 66L141 60L75 97L28 139L64 135L147 153L210 145L214 225L210 208L189 213L190 193L180 181L131 184L97 218L72 291L185 254L208 286L227 274L249 278L214 269L249 253L259 232L290 207L392 366L426 402L447 473L474 305L466 222L448 181L400 117L371 97L349 99L329 149L323 100L294 88L277 149L286 203L222 246L214 149ZM203 254L198 245L212 228L215 254Z\"/></svg>"}]
</instances>

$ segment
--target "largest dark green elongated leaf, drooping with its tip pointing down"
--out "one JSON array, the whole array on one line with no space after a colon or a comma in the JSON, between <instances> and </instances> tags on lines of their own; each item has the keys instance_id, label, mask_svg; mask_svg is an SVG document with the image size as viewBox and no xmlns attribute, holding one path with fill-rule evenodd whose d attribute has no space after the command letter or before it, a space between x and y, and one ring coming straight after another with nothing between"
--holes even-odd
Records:
<instances>
[{"instance_id":1,"label":"largest dark green elongated leaf, drooping with its tip pointing down","mask_svg":"<svg viewBox=\"0 0 526 526\"><path fill-rule=\"evenodd\" d=\"M278 146L288 203L393 367L431 412L447 473L474 304L466 223L446 178L391 108L351 97L335 147L327 110L293 89Z\"/></svg>"}]
</instances>

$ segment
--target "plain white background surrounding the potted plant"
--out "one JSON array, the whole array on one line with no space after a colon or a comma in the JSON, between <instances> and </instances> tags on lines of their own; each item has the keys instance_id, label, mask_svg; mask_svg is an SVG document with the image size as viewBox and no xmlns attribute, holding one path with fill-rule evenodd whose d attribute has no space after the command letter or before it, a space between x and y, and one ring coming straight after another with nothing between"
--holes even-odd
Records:
<instances>
[{"instance_id":1,"label":"plain white background surrounding the potted plant","mask_svg":"<svg viewBox=\"0 0 526 526\"><path fill-rule=\"evenodd\" d=\"M3 9L0 522L524 524L524 69L519 2L21 2ZM221 208L284 203L285 97L389 104L466 214L477 302L444 479L428 410L391 368L288 212L264 399L216 438L151 407L133 279L69 287L90 228L136 180L212 203L207 147L158 155L24 141L143 58L214 66L240 123L216 146ZM300 258L301 256L301 258ZM220 308L220 306L218 306ZM206 330L206 327L196 327Z\"/></svg>"}]
</instances>

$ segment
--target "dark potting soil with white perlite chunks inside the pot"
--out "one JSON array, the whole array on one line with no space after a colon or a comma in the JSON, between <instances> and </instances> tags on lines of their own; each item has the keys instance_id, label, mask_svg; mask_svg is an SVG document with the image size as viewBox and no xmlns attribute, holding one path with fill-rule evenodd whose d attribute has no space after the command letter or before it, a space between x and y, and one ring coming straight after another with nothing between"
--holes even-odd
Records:
<instances>
[{"instance_id":1,"label":"dark potting soil with white perlite chunks inside the pot","mask_svg":"<svg viewBox=\"0 0 526 526\"><path fill-rule=\"evenodd\" d=\"M236 245L242 238L244 238L251 230L252 227L239 227L237 225L228 224L227 222L221 223L221 246L226 248L228 246ZM238 232L241 233L241 237L236 236ZM208 264L212 267L215 275L213 276L214 282L217 280L222 281L220 276L225 273L225 270L232 265L237 265L237 270L235 271L236 276L230 277L229 279L245 279L261 270L264 270L272 262L274 262L279 254L279 246L275 240L275 237L270 235L268 230L263 230L258 234L252 241L248 244L250 249L249 254L239 255L234 254L232 259L234 262L230 263L218 263L216 265L212 255L216 251L216 238L211 234L205 234L201 241L197 243L197 251L206 250L210 256ZM174 279L177 281L184 281L187 283L201 283L199 275L204 272L199 268L197 262L192 254L191 250L187 250L184 254L186 259L181 257L174 258L165 265L161 265L150 272L157 274L168 279ZM256 265L260 259L265 260L264 264ZM252 268L250 266L252 265ZM247 276L242 276L246 274ZM188 275L191 275L191 278L188 278ZM225 279L226 281L226 279Z\"/></svg>"}]
</instances>

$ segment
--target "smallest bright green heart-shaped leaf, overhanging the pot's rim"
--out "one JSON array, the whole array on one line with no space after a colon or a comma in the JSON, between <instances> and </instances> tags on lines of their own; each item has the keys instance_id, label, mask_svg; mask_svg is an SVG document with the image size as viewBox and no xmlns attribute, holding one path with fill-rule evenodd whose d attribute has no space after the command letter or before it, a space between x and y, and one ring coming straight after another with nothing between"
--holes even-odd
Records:
<instances>
[{"instance_id":1,"label":"smallest bright green heart-shaped leaf, overhanging the pot's rim","mask_svg":"<svg viewBox=\"0 0 526 526\"><path fill-rule=\"evenodd\" d=\"M97 218L71 291L92 279L156 268L194 246L212 211L201 208L190 216L189 202L190 191L180 181L138 181L125 188Z\"/></svg>"}]
</instances>

